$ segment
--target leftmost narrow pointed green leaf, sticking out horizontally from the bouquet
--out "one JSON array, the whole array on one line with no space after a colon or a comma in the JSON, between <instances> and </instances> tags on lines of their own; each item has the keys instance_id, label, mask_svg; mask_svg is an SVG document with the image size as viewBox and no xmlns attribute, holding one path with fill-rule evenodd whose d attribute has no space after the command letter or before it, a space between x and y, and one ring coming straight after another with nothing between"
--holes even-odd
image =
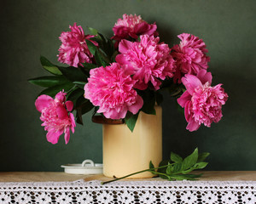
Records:
<instances>
[{"instance_id":1,"label":"leftmost narrow pointed green leaf, sticking out horizontally from the bouquet","mask_svg":"<svg viewBox=\"0 0 256 204\"><path fill-rule=\"evenodd\" d=\"M29 79L28 82L38 85L40 87L54 87L58 84L63 84L69 82L66 77L63 76L47 76L47 77L37 77Z\"/></svg>"}]
</instances>

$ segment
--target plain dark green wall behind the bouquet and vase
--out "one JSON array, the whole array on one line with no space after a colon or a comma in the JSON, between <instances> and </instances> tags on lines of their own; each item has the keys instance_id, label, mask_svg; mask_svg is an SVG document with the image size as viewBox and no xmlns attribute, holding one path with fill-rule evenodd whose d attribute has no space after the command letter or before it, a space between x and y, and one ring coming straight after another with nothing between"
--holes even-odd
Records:
<instances>
[{"instance_id":1,"label":"plain dark green wall behind the bouquet and vase","mask_svg":"<svg viewBox=\"0 0 256 204\"><path fill-rule=\"evenodd\" d=\"M1 1L0 171L62 171L61 164L86 158L102 162L102 127L84 116L69 144L50 144L40 127L34 100L41 88L26 82L47 75L42 54L57 63L61 31L77 22L110 37L122 14L156 22L170 47L177 35L202 38L211 57L213 85L223 83L229 100L223 119L195 133L185 129L174 99L165 95L163 153L186 156L195 147L209 151L208 170L256 170L256 2L252 1ZM125 159L125 158L124 158Z\"/></svg>"}]
</instances>

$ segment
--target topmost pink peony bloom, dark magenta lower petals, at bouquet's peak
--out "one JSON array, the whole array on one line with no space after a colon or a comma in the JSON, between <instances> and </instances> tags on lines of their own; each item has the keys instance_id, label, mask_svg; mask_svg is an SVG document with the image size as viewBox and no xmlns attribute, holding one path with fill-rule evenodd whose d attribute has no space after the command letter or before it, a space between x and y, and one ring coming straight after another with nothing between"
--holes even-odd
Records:
<instances>
[{"instance_id":1,"label":"topmost pink peony bloom, dark magenta lower petals, at bouquet's peak","mask_svg":"<svg viewBox=\"0 0 256 204\"><path fill-rule=\"evenodd\" d=\"M113 26L113 39L120 42L129 37L137 39L140 35L158 35L156 28L155 23L148 24L140 15L123 14L123 19L119 19Z\"/></svg>"}]
</instances>

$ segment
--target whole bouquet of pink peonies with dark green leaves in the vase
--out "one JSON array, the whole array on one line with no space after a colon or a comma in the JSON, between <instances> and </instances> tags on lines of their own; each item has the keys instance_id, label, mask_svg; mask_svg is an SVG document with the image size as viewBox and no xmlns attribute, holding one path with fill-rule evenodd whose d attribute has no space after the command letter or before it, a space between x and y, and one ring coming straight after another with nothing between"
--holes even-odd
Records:
<instances>
[{"instance_id":1,"label":"whole bouquet of pink peonies with dark green leaves in the vase","mask_svg":"<svg viewBox=\"0 0 256 204\"><path fill-rule=\"evenodd\" d=\"M53 65L41 57L41 64L53 74L29 82L44 87L36 99L47 139L56 144L64 133L66 144L75 122L93 114L122 119L133 130L140 111L155 114L154 105L168 90L184 108L189 131L201 124L219 122L222 105L228 99L221 84L211 85L207 72L210 58L205 42L183 33L178 45L160 42L157 26L140 15L123 15L113 26L113 37L104 37L93 28L85 35L76 23L61 33L58 60L68 66ZM72 111L76 112L73 116Z\"/></svg>"}]
</instances>

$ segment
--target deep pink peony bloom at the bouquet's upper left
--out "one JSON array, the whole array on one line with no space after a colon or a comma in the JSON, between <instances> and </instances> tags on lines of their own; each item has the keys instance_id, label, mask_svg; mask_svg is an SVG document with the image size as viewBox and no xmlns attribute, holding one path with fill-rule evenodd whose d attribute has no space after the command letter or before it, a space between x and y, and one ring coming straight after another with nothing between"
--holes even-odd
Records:
<instances>
[{"instance_id":1,"label":"deep pink peony bloom at the bouquet's upper left","mask_svg":"<svg viewBox=\"0 0 256 204\"><path fill-rule=\"evenodd\" d=\"M71 31L62 32L60 40L62 42L59 48L58 60L61 63L78 67L83 66L81 63L91 63L93 55L90 53L85 40L90 40L91 35L84 35L83 28L77 26L69 26ZM90 40L97 46L97 42Z\"/></svg>"}]
</instances>

